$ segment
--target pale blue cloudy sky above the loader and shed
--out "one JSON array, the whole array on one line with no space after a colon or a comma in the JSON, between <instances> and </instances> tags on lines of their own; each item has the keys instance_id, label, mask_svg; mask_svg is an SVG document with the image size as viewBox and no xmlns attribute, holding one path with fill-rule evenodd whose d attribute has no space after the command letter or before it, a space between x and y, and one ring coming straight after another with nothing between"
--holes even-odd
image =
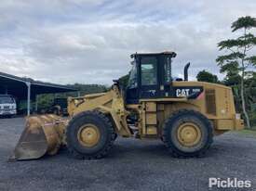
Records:
<instances>
[{"instance_id":1,"label":"pale blue cloudy sky above the loader and shed","mask_svg":"<svg viewBox=\"0 0 256 191\"><path fill-rule=\"evenodd\" d=\"M255 0L1 0L0 71L111 84L130 70L131 54L169 50L177 53L173 76L191 62L191 80L200 70L222 78L217 44L255 10Z\"/></svg>"}]
</instances>

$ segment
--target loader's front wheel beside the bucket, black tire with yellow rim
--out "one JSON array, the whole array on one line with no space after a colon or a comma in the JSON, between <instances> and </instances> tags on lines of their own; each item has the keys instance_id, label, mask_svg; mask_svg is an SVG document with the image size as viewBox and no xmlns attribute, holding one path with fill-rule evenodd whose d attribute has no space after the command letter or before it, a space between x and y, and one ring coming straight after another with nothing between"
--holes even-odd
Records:
<instances>
[{"instance_id":1,"label":"loader's front wheel beside the bucket, black tire with yellow rim","mask_svg":"<svg viewBox=\"0 0 256 191\"><path fill-rule=\"evenodd\" d=\"M101 159L115 141L110 119L99 111L77 114L67 127L67 147L75 159Z\"/></svg>"}]
</instances>

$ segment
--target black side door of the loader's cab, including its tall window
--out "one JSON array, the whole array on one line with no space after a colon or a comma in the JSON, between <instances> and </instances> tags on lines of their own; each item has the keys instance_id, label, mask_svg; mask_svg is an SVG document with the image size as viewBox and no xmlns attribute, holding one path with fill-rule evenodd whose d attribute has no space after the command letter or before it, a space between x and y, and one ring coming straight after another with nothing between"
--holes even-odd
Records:
<instances>
[{"instance_id":1,"label":"black side door of the loader's cab, including its tall window","mask_svg":"<svg viewBox=\"0 0 256 191\"><path fill-rule=\"evenodd\" d=\"M159 96L158 62L156 56L140 58L140 98L156 98Z\"/></svg>"}]
</instances>

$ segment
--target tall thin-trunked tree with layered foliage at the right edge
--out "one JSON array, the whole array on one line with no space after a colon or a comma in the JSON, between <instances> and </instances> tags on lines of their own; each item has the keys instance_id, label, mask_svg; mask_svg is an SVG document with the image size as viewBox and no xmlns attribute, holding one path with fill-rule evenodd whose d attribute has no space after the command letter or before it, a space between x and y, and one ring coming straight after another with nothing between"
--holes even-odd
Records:
<instances>
[{"instance_id":1,"label":"tall thin-trunked tree with layered foliage at the right edge","mask_svg":"<svg viewBox=\"0 0 256 191\"><path fill-rule=\"evenodd\" d=\"M249 66L256 66L256 57L249 55L249 51L256 45L256 37L250 32L253 28L256 28L256 19L249 16L239 18L233 22L231 26L232 32L241 31L241 35L236 39L228 39L220 42L218 44L220 51L227 50L229 54L219 56L216 59L218 65L221 67L221 71L226 71L225 68L234 67L241 76L240 94L242 109L249 128L249 115L245 99L245 76Z\"/></svg>"}]
</instances>

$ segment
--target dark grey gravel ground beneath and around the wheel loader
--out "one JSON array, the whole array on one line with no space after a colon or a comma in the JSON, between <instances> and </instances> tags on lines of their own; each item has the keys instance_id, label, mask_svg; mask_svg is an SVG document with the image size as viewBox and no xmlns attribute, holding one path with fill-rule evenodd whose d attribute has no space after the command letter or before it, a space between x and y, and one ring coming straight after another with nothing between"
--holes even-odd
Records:
<instances>
[{"instance_id":1,"label":"dark grey gravel ground beneath and around the wheel loader","mask_svg":"<svg viewBox=\"0 0 256 191\"><path fill-rule=\"evenodd\" d=\"M209 177L249 180L252 187L244 190L256 190L256 138L245 134L215 137L200 159L171 158L158 140L117 138L105 159L72 159L62 149L53 157L8 162L23 128L23 118L0 119L0 190L205 191Z\"/></svg>"}]
</instances>

